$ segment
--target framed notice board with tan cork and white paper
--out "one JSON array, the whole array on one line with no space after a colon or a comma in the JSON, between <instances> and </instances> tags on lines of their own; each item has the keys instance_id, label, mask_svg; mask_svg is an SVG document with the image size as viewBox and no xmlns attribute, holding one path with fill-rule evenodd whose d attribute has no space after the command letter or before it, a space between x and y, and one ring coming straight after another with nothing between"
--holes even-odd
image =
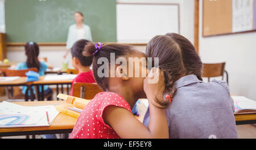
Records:
<instances>
[{"instance_id":1,"label":"framed notice board with tan cork and white paper","mask_svg":"<svg viewBox=\"0 0 256 150\"><path fill-rule=\"evenodd\" d=\"M256 0L203 0L203 36L256 31Z\"/></svg>"}]
</instances>

